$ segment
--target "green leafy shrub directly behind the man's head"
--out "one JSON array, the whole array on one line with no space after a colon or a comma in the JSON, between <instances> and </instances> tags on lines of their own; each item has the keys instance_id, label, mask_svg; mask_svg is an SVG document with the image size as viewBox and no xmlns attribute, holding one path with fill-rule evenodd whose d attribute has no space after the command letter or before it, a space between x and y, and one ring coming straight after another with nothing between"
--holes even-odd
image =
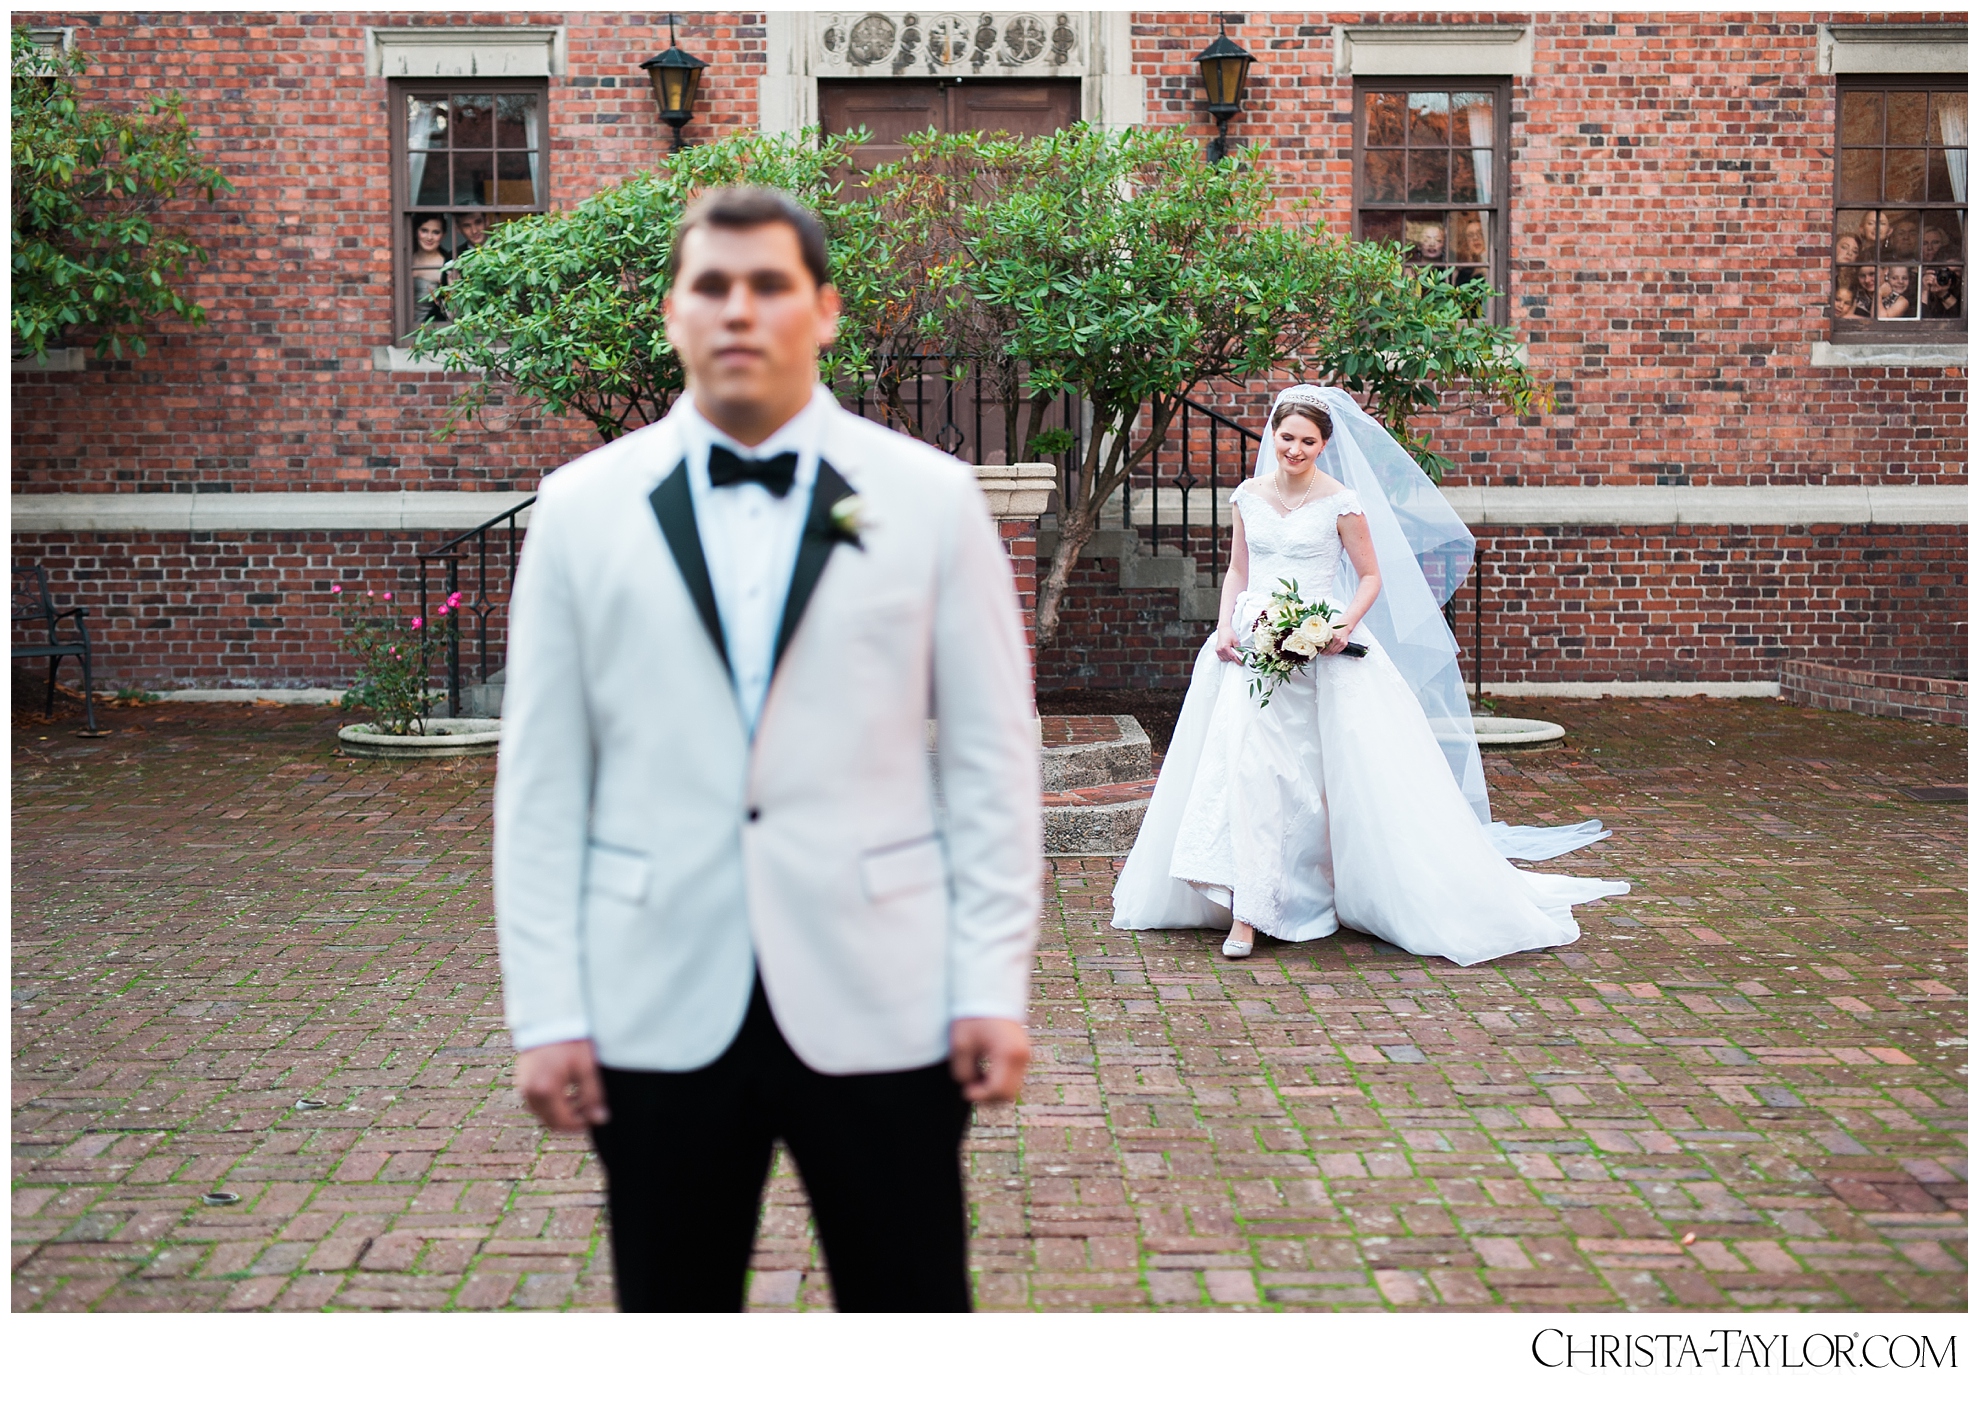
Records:
<instances>
[{"instance_id":1,"label":"green leafy shrub directly behind the man's head","mask_svg":"<svg viewBox=\"0 0 1979 1402\"><path fill-rule=\"evenodd\" d=\"M441 289L447 321L422 325L410 343L416 354L481 376L455 400L453 424L495 386L552 414L578 412L606 440L663 418L687 382L661 313L667 255L687 204L722 184L776 186L817 212L847 303L843 349L827 368L869 368L861 329L883 315L896 277L873 210L837 198L855 145L819 143L815 129L726 137L679 150L572 210L499 224L451 265Z\"/></svg>"}]
</instances>

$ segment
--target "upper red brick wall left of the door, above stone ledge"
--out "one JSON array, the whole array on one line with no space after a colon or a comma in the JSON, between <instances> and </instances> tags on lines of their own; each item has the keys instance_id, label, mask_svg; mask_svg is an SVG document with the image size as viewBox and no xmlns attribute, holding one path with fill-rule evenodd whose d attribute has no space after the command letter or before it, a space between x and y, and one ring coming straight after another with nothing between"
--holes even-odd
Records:
<instances>
[{"instance_id":1,"label":"upper red brick wall left of the door, above stone ledge","mask_svg":"<svg viewBox=\"0 0 1979 1402\"><path fill-rule=\"evenodd\" d=\"M236 194L182 216L212 253L190 279L208 325L162 327L133 362L14 374L14 491L530 489L596 448L582 420L483 416L439 438L453 376L380 372L392 341L386 79L364 30L564 24L550 79L552 206L653 164L671 141L639 59L665 14L38 14L77 26L85 91L186 95L202 150ZM708 61L689 133L754 129L762 16L683 16Z\"/></svg>"}]
</instances>

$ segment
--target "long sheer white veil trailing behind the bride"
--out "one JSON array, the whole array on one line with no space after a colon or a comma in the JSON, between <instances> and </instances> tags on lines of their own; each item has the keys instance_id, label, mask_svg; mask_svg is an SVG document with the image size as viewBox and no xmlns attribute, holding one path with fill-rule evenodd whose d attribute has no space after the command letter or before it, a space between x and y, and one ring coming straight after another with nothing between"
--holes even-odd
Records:
<instances>
[{"instance_id":1,"label":"long sheer white veil trailing behind the bride","mask_svg":"<svg viewBox=\"0 0 1979 1402\"><path fill-rule=\"evenodd\" d=\"M1544 861L1607 838L1601 820L1563 828L1492 822L1457 640L1443 620L1443 606L1470 576L1476 539L1409 451L1352 394L1338 386L1294 384L1278 394L1272 412L1286 400L1316 404L1334 422L1318 467L1360 495L1381 566L1381 592L1362 622L1415 691L1457 786L1478 822L1490 824L1492 846L1508 857ZM1255 475L1276 469L1278 455L1267 428L1259 438ZM1358 586L1354 562L1342 556L1340 596L1352 598Z\"/></svg>"}]
</instances>

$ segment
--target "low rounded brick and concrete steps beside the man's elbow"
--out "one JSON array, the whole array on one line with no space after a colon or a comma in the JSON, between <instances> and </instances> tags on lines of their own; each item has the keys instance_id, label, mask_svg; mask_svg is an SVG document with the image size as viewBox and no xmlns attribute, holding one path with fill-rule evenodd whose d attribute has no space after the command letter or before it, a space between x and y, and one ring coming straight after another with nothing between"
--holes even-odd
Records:
<instances>
[{"instance_id":1,"label":"low rounded brick and concrete steps beside the man's elbow","mask_svg":"<svg viewBox=\"0 0 1979 1402\"><path fill-rule=\"evenodd\" d=\"M1154 751L1130 715L1039 719L1045 851L1122 853L1154 794Z\"/></svg>"}]
</instances>

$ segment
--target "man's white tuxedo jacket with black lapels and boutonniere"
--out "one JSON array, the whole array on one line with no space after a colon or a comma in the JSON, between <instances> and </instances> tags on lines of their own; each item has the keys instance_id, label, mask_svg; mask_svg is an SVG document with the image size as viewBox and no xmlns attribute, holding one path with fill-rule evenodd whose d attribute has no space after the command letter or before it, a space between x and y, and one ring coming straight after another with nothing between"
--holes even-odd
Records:
<instances>
[{"instance_id":1,"label":"man's white tuxedo jacket with black lapels and boutonniere","mask_svg":"<svg viewBox=\"0 0 1979 1402\"><path fill-rule=\"evenodd\" d=\"M758 968L829 1073L926 1065L950 1020L1025 1014L1043 840L1009 562L946 453L837 406L817 442L754 743L675 422L542 483L495 784L518 1050L590 1038L613 1067L707 1065ZM857 545L831 529L849 493Z\"/></svg>"}]
</instances>

